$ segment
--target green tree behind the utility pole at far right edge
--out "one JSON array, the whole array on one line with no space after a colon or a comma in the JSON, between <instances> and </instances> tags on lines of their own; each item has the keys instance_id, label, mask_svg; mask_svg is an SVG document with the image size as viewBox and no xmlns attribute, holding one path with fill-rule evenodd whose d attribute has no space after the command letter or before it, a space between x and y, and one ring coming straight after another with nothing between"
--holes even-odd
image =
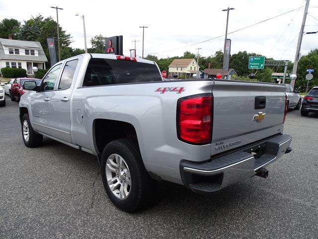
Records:
<instances>
[{"instance_id":1,"label":"green tree behind the utility pole at far right edge","mask_svg":"<svg viewBox=\"0 0 318 239\"><path fill-rule=\"evenodd\" d=\"M304 55L300 58L297 68L297 79L295 81L295 88L302 88L306 90L308 81L306 80L306 75L308 72L307 69L315 69L315 72L312 74L314 78L309 81L308 88L311 89L314 86L318 85L318 48L311 50L307 55Z\"/></svg>"}]
</instances>

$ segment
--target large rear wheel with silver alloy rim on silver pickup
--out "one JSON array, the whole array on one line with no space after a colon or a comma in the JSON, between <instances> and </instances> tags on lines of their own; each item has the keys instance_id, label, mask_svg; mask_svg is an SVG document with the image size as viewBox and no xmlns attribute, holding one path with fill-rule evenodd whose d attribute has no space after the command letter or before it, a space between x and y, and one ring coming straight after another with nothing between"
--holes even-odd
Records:
<instances>
[{"instance_id":1,"label":"large rear wheel with silver alloy rim on silver pickup","mask_svg":"<svg viewBox=\"0 0 318 239\"><path fill-rule=\"evenodd\" d=\"M125 212L136 212L148 206L157 182L146 171L138 144L131 139L108 143L101 156L101 177L112 203Z\"/></svg>"}]
</instances>

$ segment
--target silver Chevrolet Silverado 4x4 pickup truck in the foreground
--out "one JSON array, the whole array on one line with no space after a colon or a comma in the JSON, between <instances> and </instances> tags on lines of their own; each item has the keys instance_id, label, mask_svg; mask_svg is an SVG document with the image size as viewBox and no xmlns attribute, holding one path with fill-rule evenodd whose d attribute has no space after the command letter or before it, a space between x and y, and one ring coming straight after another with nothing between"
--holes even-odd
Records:
<instances>
[{"instance_id":1,"label":"silver Chevrolet Silverado 4x4 pickup truck in the foreground","mask_svg":"<svg viewBox=\"0 0 318 239\"><path fill-rule=\"evenodd\" d=\"M27 147L47 136L97 156L110 200L147 206L159 180L214 193L290 152L285 86L162 81L155 62L83 54L55 64L19 103Z\"/></svg>"}]
</instances>

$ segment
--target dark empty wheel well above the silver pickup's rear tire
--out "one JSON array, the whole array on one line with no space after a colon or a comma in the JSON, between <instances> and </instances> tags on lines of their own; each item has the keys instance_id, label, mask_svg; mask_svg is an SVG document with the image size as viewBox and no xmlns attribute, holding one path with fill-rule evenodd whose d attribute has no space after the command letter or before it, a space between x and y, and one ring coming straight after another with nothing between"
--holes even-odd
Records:
<instances>
[{"instance_id":1,"label":"dark empty wheel well above the silver pickup's rear tire","mask_svg":"<svg viewBox=\"0 0 318 239\"><path fill-rule=\"evenodd\" d=\"M132 138L138 143L135 127L131 123L111 119L95 119L93 124L95 147L102 153L107 143L119 138Z\"/></svg>"}]
</instances>

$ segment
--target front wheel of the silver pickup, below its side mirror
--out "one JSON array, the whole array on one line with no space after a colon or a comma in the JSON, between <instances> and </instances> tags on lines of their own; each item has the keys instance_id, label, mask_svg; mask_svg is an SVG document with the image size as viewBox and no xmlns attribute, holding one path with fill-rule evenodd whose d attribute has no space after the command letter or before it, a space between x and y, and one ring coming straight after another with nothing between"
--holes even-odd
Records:
<instances>
[{"instance_id":1,"label":"front wheel of the silver pickup, below its side mirror","mask_svg":"<svg viewBox=\"0 0 318 239\"><path fill-rule=\"evenodd\" d=\"M28 114L24 114L22 117L21 131L25 146L34 148L42 144L43 135L38 134L33 130Z\"/></svg>"}]
</instances>

